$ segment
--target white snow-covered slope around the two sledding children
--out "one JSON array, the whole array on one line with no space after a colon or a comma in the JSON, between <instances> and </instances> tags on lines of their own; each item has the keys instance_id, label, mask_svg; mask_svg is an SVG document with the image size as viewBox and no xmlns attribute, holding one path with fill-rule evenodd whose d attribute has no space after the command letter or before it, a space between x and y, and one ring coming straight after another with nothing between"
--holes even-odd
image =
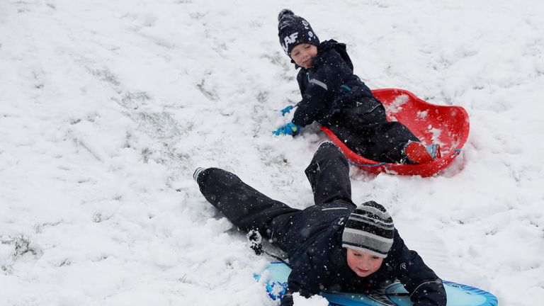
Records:
<instances>
[{"instance_id":1,"label":"white snow-covered slope around the two sledding children","mask_svg":"<svg viewBox=\"0 0 544 306\"><path fill-rule=\"evenodd\" d=\"M4 0L0 305L274 305L252 276L268 259L191 174L312 204L303 169L324 136L271 135L299 98L285 7L346 42L372 89L470 114L441 175L352 169L355 202L384 204L443 279L543 303L540 1Z\"/></svg>"}]
</instances>

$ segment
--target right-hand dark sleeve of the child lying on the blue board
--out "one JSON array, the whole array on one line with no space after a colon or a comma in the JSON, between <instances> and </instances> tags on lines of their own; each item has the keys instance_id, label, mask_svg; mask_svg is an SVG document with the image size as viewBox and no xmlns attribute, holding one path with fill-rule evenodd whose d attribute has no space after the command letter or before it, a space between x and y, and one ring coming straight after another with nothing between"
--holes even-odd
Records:
<instances>
[{"instance_id":1,"label":"right-hand dark sleeve of the child lying on the blue board","mask_svg":"<svg viewBox=\"0 0 544 306\"><path fill-rule=\"evenodd\" d=\"M399 281L410 294L414 306L446 306L446 290L442 280L424 263L416 251L404 245L395 230L397 246L392 249L393 268Z\"/></svg>"}]
</instances>

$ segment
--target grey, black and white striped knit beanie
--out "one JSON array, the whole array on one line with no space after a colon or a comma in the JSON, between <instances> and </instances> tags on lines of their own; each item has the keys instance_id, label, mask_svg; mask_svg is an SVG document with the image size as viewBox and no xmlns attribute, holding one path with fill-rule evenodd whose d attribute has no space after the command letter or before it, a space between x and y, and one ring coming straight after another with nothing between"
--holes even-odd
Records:
<instances>
[{"instance_id":1,"label":"grey, black and white striped knit beanie","mask_svg":"<svg viewBox=\"0 0 544 306\"><path fill-rule=\"evenodd\" d=\"M385 208L374 201L351 212L342 233L342 247L387 257L393 244L395 225Z\"/></svg>"}]
</instances>

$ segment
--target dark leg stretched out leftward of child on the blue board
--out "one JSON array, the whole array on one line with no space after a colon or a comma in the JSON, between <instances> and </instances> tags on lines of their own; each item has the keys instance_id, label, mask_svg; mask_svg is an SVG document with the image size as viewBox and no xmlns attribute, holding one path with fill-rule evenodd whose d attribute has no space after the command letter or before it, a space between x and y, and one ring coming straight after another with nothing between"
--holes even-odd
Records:
<instances>
[{"instance_id":1,"label":"dark leg stretched out leftward of child on the blue board","mask_svg":"<svg viewBox=\"0 0 544 306\"><path fill-rule=\"evenodd\" d=\"M230 222L244 231L259 230L264 238L272 239L283 249L281 238L300 210L268 198L222 169L204 169L197 176L200 192Z\"/></svg>"}]
</instances>

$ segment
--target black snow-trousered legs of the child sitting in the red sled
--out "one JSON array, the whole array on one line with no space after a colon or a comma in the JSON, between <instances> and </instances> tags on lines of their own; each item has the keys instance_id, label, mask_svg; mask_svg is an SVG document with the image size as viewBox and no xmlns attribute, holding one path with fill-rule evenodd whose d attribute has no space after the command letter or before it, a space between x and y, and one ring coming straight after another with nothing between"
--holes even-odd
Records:
<instances>
[{"instance_id":1,"label":"black snow-trousered legs of the child sitting in the red sled","mask_svg":"<svg viewBox=\"0 0 544 306\"><path fill-rule=\"evenodd\" d=\"M402 123L388 122L381 105L368 113L357 107L344 109L331 130L353 152L376 162L405 162L404 147L419 142Z\"/></svg>"}]
</instances>

